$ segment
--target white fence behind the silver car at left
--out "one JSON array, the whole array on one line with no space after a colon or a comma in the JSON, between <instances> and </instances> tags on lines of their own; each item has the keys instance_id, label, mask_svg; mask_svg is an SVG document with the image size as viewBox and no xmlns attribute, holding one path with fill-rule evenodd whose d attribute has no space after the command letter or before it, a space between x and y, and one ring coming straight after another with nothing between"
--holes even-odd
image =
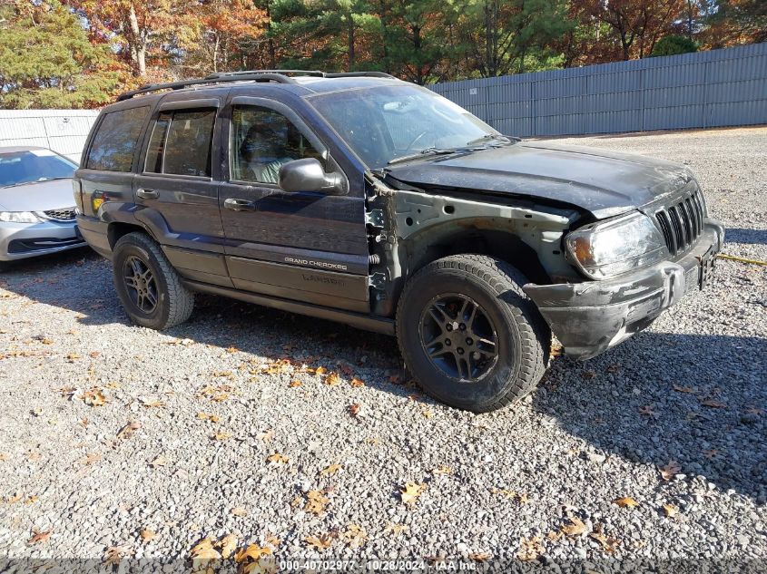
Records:
<instances>
[{"instance_id":1,"label":"white fence behind the silver car at left","mask_svg":"<svg viewBox=\"0 0 767 574\"><path fill-rule=\"evenodd\" d=\"M0 148L38 145L80 161L98 110L0 110Z\"/></svg>"}]
</instances>

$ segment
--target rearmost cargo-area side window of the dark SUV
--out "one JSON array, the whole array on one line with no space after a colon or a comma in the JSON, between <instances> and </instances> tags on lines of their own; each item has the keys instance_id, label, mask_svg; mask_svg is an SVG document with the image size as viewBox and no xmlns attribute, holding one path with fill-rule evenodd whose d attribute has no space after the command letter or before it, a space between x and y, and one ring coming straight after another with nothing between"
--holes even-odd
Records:
<instances>
[{"instance_id":1,"label":"rearmost cargo-area side window of the dark SUV","mask_svg":"<svg viewBox=\"0 0 767 574\"><path fill-rule=\"evenodd\" d=\"M130 171L133 152L149 115L149 106L109 112L93 136L85 161L89 170Z\"/></svg>"}]
</instances>

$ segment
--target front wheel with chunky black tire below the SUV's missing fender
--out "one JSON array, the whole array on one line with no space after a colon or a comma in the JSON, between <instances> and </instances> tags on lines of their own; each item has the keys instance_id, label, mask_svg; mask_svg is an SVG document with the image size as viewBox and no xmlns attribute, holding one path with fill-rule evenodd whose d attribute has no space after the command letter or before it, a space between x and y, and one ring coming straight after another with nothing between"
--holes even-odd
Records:
<instances>
[{"instance_id":1,"label":"front wheel with chunky black tire below the SUV's missing fender","mask_svg":"<svg viewBox=\"0 0 767 574\"><path fill-rule=\"evenodd\" d=\"M424 391L450 406L487 413L535 389L546 372L551 332L522 291L526 282L505 261L484 255L441 258L408 280L398 302L397 338ZM466 349L457 346L464 342Z\"/></svg>"}]
</instances>

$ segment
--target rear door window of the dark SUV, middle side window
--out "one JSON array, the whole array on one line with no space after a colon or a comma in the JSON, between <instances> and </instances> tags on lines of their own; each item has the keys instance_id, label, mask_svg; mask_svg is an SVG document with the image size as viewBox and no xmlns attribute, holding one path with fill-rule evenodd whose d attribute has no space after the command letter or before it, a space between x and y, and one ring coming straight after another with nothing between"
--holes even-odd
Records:
<instances>
[{"instance_id":1,"label":"rear door window of the dark SUV, middle side window","mask_svg":"<svg viewBox=\"0 0 767 574\"><path fill-rule=\"evenodd\" d=\"M211 177L216 110L162 112L154 123L144 171Z\"/></svg>"}]
</instances>

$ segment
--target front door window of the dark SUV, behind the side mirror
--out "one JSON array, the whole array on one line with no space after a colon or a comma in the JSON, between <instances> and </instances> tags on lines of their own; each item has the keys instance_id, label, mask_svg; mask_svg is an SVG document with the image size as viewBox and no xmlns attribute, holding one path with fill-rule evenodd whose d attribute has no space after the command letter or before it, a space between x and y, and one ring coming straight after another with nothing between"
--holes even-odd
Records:
<instances>
[{"instance_id":1,"label":"front door window of the dark SUV, behind the side mirror","mask_svg":"<svg viewBox=\"0 0 767 574\"><path fill-rule=\"evenodd\" d=\"M276 184L288 161L321 154L280 112L261 106L235 106L231 115L231 179Z\"/></svg>"}]
</instances>

